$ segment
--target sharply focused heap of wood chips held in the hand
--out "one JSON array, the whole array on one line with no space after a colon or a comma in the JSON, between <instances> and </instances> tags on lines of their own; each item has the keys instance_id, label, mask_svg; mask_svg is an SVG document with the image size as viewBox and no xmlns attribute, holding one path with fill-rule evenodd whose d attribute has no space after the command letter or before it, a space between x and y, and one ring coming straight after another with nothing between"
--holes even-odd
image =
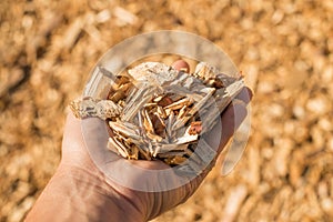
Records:
<instances>
[{"instance_id":1,"label":"sharply focused heap of wood chips held in the hand","mask_svg":"<svg viewBox=\"0 0 333 222\"><path fill-rule=\"evenodd\" d=\"M127 73L109 72L113 82L105 100L83 98L70 108L77 118L105 120L108 148L119 155L178 165L195 152L201 135L244 87L240 74L229 77L205 62L186 71L144 62Z\"/></svg>"}]
</instances>

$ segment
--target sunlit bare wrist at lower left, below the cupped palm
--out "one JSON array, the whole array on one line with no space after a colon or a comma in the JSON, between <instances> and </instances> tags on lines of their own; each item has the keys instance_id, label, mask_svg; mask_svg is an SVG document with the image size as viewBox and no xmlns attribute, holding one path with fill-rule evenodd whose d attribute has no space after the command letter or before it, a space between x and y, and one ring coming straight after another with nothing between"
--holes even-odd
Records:
<instances>
[{"instance_id":1,"label":"sunlit bare wrist at lower left, below the cupped palm","mask_svg":"<svg viewBox=\"0 0 333 222\"><path fill-rule=\"evenodd\" d=\"M108 185L102 176L63 164L30 214L28 221L143 221L131 200Z\"/></svg>"}]
</instances>

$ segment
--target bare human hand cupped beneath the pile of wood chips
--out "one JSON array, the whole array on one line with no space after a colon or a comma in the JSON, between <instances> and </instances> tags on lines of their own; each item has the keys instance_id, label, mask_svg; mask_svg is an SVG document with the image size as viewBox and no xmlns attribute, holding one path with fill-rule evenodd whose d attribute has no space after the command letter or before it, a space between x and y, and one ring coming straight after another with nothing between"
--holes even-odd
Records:
<instances>
[{"instance_id":1,"label":"bare human hand cupped beneath the pile of wood chips","mask_svg":"<svg viewBox=\"0 0 333 222\"><path fill-rule=\"evenodd\" d=\"M188 64L178 61L173 65L180 70L186 68ZM238 99L246 104L250 102L251 97L251 91L244 88ZM232 137L234 130L246 117L244 104L231 104L223 112L221 115L221 138L215 137L216 127L208 134L208 143L216 151L215 159ZM170 172L170 167L162 161L130 161L111 152L108 152L108 158L112 158L112 161L107 161L102 167L97 165L89 150L97 150L97 152L100 152L97 155L104 159L105 153L103 149L105 148L108 137L104 121L97 118L78 120L72 114L68 115L63 134L62 160L56 175L50 182L51 184L48 186L50 186L49 191L56 189L60 193L63 192L61 186L65 186L68 189L67 192L72 193L71 196L74 195L68 208L70 209L74 204L75 210L73 212L75 213L73 214L72 212L71 214L71 210L65 210L68 213L67 219L69 220L151 220L185 202L195 192L215 163L214 159L205 170L195 178L191 178L191 180L172 173L172 171L168 174L168 178L154 173L164 170L169 170ZM90 149L88 149L88 145ZM141 173L143 171L149 171L150 176ZM117 180L119 178L122 178L121 182ZM59 184L57 182L59 180L63 182ZM179 183L180 181L182 183ZM174 183L175 185L170 190L161 189L165 188L165 183ZM133 189L137 185L141 189ZM49 200L48 189L46 189L44 193L41 202L44 202L46 196ZM65 198L62 196L59 201ZM51 202L51 200L47 202ZM62 211L63 209L59 210ZM32 211L32 216L33 213L36 215L36 210Z\"/></svg>"}]
</instances>

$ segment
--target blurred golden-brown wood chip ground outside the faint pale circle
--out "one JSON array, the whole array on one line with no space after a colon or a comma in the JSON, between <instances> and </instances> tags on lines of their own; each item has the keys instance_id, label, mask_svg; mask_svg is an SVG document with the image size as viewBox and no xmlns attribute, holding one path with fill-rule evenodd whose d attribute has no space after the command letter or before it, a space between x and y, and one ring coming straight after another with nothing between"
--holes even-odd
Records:
<instances>
[{"instance_id":1,"label":"blurred golden-brown wood chip ground outside the faint pale circle","mask_svg":"<svg viewBox=\"0 0 333 222\"><path fill-rule=\"evenodd\" d=\"M251 2L251 3L250 3ZM67 105L98 59L157 30L202 36L254 91L251 137L160 221L333 220L332 1L0 2L0 221L22 221L54 172Z\"/></svg>"}]
</instances>

